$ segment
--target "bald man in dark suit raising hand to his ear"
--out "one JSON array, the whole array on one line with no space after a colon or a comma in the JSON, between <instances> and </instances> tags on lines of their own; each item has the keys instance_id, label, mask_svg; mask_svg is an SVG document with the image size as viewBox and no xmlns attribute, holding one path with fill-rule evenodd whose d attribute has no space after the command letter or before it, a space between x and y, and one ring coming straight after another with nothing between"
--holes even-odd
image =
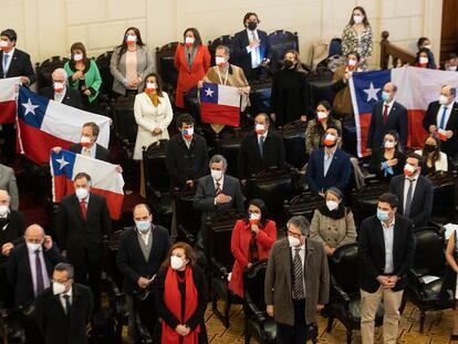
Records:
<instances>
[{"instance_id":1,"label":"bald man in dark suit raising hand to his ear","mask_svg":"<svg viewBox=\"0 0 458 344\"><path fill-rule=\"evenodd\" d=\"M59 253L50 236L40 225L25 229L24 242L10 251L7 277L13 288L14 307L27 306L51 285L56 263L65 259Z\"/></svg>"}]
</instances>

